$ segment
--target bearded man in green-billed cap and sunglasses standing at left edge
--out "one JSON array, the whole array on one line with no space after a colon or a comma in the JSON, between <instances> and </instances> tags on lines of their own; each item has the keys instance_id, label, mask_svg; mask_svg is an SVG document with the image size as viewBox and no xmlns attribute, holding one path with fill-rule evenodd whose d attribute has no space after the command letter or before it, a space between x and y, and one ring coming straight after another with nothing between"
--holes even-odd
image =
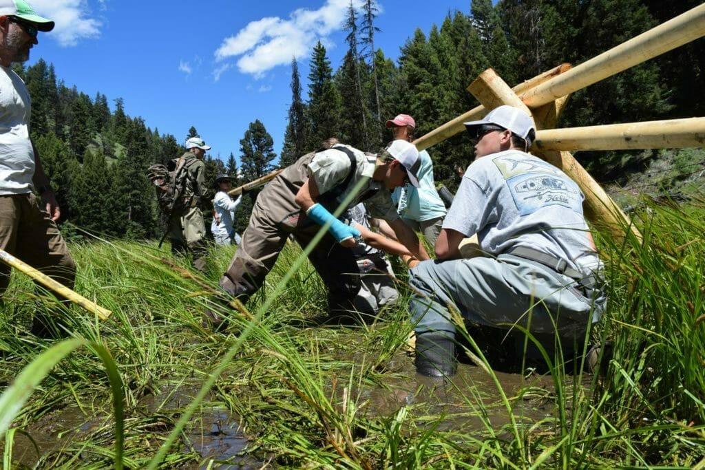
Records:
<instances>
[{"instance_id":1,"label":"bearded man in green-billed cap and sunglasses standing at left edge","mask_svg":"<svg viewBox=\"0 0 705 470\"><path fill-rule=\"evenodd\" d=\"M30 58L37 32L53 28L25 1L0 0L0 249L73 288L76 266L56 225L61 209L30 140L30 94L12 70ZM9 281L9 266L0 264L0 296ZM66 323L38 310L32 332L63 335Z\"/></svg>"}]
</instances>

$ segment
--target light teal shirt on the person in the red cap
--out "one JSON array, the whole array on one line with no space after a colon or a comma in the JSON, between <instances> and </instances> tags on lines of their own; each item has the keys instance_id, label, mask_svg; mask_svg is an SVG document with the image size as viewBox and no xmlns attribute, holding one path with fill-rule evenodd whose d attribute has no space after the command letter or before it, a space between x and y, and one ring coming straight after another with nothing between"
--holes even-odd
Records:
<instances>
[{"instance_id":1,"label":"light teal shirt on the person in the red cap","mask_svg":"<svg viewBox=\"0 0 705 470\"><path fill-rule=\"evenodd\" d=\"M446 205L436 191L434 183L434 166L429 152L419 151L421 168L419 168L419 187L406 185L398 187L392 194L397 211L403 218L423 222L432 218L446 216Z\"/></svg>"}]
</instances>

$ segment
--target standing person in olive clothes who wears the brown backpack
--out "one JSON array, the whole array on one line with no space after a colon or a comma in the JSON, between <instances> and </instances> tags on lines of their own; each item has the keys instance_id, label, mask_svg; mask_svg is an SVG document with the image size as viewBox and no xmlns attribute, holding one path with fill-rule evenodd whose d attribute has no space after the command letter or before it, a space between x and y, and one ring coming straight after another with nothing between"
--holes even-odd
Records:
<instances>
[{"instance_id":1,"label":"standing person in olive clothes who wears the brown backpack","mask_svg":"<svg viewBox=\"0 0 705 470\"><path fill-rule=\"evenodd\" d=\"M190 254L193 267L205 271L206 225L203 210L211 200L210 191L206 185L206 166L203 158L211 146L201 137L191 137L186 141L186 151L173 163L178 167L180 161L187 168L187 179L182 197L188 199L183 211L173 211L168 219L167 235L171 242L171 252L176 255Z\"/></svg>"}]
</instances>

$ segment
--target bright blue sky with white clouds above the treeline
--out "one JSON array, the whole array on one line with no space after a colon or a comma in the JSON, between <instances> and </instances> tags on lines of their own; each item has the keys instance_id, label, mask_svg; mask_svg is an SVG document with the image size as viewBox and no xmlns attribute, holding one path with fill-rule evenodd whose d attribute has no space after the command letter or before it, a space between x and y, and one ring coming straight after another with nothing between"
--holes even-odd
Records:
<instances>
[{"instance_id":1,"label":"bright blue sky with white clouds above the treeline","mask_svg":"<svg viewBox=\"0 0 705 470\"><path fill-rule=\"evenodd\" d=\"M122 98L125 112L183 143L193 125L210 154L239 157L240 139L255 119L279 153L291 101L291 58L302 85L318 39L338 68L345 54L341 30L350 0L153 1L29 0L56 21L39 33L28 64L44 58L56 76L93 98ZM353 0L360 2L360 0ZM397 58L420 27L441 25L450 11L470 11L470 0L378 0L376 47ZM303 98L306 99L304 89ZM449 116L448 119L454 116Z\"/></svg>"}]
</instances>

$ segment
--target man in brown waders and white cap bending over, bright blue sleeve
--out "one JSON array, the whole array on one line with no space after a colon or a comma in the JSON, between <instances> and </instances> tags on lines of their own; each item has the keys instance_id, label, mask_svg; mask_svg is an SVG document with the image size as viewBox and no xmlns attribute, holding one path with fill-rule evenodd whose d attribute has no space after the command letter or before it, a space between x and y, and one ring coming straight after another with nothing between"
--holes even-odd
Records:
<instances>
[{"instance_id":1,"label":"man in brown waders and white cap bending over, bright blue sleeve","mask_svg":"<svg viewBox=\"0 0 705 470\"><path fill-rule=\"evenodd\" d=\"M417 259L429 259L391 200L395 187L407 181L418 185L420 161L416 147L399 140L383 153L369 156L335 139L329 141L319 151L302 156L285 168L259 193L242 242L220 280L220 287L228 296L245 302L264 283L289 235L301 247L307 247L321 225L328 224L328 233L309 259L328 287L331 319L349 317L360 291L360 276L355 275L358 266L350 248L357 244L361 233L355 224L345 223L333 214L359 202L364 202L372 216L388 221L401 244ZM372 241L364 241L372 245ZM223 316L209 310L205 320L217 327Z\"/></svg>"}]
</instances>

